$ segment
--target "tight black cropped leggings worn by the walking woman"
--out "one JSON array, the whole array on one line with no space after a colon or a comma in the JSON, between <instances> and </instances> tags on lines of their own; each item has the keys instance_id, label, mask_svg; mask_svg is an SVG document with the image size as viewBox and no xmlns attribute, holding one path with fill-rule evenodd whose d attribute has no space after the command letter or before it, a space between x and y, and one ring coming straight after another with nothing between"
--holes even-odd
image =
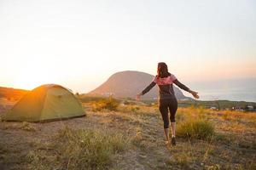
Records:
<instances>
[{"instance_id":1,"label":"tight black cropped leggings worn by the walking woman","mask_svg":"<svg viewBox=\"0 0 256 170\"><path fill-rule=\"evenodd\" d=\"M177 99L176 98L160 99L159 100L159 110L160 110L161 116L163 118L165 128L169 127L168 109L170 111L171 122L175 122L175 114L177 111Z\"/></svg>"}]
</instances>

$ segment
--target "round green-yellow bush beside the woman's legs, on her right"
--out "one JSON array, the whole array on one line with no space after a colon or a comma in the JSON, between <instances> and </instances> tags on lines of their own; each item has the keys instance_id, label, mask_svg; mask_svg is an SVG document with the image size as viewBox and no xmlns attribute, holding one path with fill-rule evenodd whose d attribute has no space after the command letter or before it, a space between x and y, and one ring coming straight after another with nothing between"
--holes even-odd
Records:
<instances>
[{"instance_id":1,"label":"round green-yellow bush beside the woman's legs, on her right","mask_svg":"<svg viewBox=\"0 0 256 170\"><path fill-rule=\"evenodd\" d=\"M187 120L177 124L177 136L192 139L209 139L214 134L211 122L203 119Z\"/></svg>"}]
</instances>

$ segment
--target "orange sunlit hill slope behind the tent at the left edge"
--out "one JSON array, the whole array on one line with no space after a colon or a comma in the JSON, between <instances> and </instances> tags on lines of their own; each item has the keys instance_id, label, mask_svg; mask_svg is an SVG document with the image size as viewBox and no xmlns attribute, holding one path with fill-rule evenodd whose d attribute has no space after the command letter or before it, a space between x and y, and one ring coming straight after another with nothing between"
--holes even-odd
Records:
<instances>
[{"instance_id":1,"label":"orange sunlit hill slope behind the tent at the left edge","mask_svg":"<svg viewBox=\"0 0 256 170\"><path fill-rule=\"evenodd\" d=\"M27 92L28 92L27 90L23 90L23 89L0 87L0 98L20 99Z\"/></svg>"}]
</instances>

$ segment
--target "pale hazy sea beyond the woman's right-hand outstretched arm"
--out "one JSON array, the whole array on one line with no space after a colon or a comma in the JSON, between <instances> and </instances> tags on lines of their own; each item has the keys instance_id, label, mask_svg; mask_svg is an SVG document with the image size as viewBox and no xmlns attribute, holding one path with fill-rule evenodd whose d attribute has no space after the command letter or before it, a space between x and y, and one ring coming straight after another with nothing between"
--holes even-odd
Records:
<instances>
[{"instance_id":1,"label":"pale hazy sea beyond the woman's right-hand outstretched arm","mask_svg":"<svg viewBox=\"0 0 256 170\"><path fill-rule=\"evenodd\" d=\"M227 99L256 102L256 77L187 82L187 84L189 88L195 89L200 94L201 100Z\"/></svg>"}]
</instances>

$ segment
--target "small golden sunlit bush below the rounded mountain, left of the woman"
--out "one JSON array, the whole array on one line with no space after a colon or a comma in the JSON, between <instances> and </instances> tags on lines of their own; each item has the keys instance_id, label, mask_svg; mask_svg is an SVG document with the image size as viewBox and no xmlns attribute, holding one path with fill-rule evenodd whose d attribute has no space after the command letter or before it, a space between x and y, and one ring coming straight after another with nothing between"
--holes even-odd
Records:
<instances>
[{"instance_id":1,"label":"small golden sunlit bush below the rounded mountain, left of the woman","mask_svg":"<svg viewBox=\"0 0 256 170\"><path fill-rule=\"evenodd\" d=\"M107 109L109 111L116 111L119 106L119 101L109 97L107 99L101 99L96 102L96 110L101 111L102 109Z\"/></svg>"}]
</instances>

